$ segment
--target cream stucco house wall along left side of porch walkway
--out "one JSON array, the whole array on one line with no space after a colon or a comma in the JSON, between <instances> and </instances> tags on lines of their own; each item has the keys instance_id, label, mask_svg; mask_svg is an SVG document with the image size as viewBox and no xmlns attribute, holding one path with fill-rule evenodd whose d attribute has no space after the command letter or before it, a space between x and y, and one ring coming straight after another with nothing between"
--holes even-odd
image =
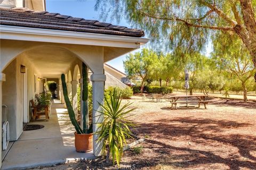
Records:
<instances>
[{"instance_id":1,"label":"cream stucco house wall along left side of porch walkway","mask_svg":"<svg viewBox=\"0 0 256 170\"><path fill-rule=\"evenodd\" d=\"M34 84L34 75L40 75L36 71L33 64L24 55L15 58L3 71L6 75L6 81L3 82L3 101L2 103L8 107L7 121L10 123L10 140L17 140L23 131L23 75L20 73L20 65L25 65L28 74L28 120L30 120L29 100L39 93L40 82L36 81L36 92Z\"/></svg>"}]
</instances>

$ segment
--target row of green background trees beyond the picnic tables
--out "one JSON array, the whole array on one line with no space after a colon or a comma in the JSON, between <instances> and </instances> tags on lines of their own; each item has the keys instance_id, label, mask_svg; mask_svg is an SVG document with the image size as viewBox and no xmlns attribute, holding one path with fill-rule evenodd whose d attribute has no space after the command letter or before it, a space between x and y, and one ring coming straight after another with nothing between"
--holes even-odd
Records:
<instances>
[{"instance_id":1,"label":"row of green background trees beyond the picnic tables","mask_svg":"<svg viewBox=\"0 0 256 170\"><path fill-rule=\"evenodd\" d=\"M187 69L190 95L194 91L204 94L210 91L243 91L244 100L247 101L247 91L256 89L253 79L255 69L250 55L239 43L233 42L229 47L216 45L210 57L199 52L184 53L177 50L164 54L144 48L141 52L126 56L125 71L137 84L133 88L134 92L146 90L145 86L182 90Z\"/></svg>"}]
</instances>

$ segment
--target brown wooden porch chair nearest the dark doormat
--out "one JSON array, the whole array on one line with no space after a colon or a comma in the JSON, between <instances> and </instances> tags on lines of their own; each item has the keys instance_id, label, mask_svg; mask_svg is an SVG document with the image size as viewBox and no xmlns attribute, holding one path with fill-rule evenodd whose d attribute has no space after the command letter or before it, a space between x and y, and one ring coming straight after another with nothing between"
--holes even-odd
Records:
<instances>
[{"instance_id":1,"label":"brown wooden porch chair nearest the dark doormat","mask_svg":"<svg viewBox=\"0 0 256 170\"><path fill-rule=\"evenodd\" d=\"M39 118L41 115L45 115L46 121L49 120L49 106L36 106L35 101L30 100L31 110L33 113L32 120L35 121L36 118Z\"/></svg>"}]
</instances>

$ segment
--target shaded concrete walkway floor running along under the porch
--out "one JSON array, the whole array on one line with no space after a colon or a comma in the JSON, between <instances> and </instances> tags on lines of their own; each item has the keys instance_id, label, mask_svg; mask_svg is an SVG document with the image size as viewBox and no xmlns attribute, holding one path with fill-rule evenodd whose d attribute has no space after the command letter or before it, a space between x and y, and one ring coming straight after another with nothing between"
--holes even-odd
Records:
<instances>
[{"instance_id":1,"label":"shaded concrete walkway floor running along under the porch","mask_svg":"<svg viewBox=\"0 0 256 170\"><path fill-rule=\"evenodd\" d=\"M4 158L2 169L25 169L51 166L93 158L93 152L79 153L74 146L74 126L67 109L54 100L50 120L42 117L29 124L42 124L43 129L24 131Z\"/></svg>"}]
</instances>

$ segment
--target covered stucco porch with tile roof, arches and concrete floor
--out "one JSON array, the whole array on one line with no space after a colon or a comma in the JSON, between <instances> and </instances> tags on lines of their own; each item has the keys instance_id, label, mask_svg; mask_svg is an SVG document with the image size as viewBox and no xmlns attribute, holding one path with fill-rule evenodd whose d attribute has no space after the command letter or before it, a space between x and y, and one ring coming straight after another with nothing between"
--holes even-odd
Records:
<instances>
[{"instance_id":1,"label":"covered stucco porch with tile roof, arches and concrete floor","mask_svg":"<svg viewBox=\"0 0 256 170\"><path fill-rule=\"evenodd\" d=\"M95 123L103 121L103 116L98 116L97 111L101 109L98 102L103 104L106 81L104 63L147 43L148 39L141 38L144 32L27 8L2 9L1 12L0 106L4 104L8 107L7 121L10 123L10 141L13 141L6 156L5 152L0 152L0 158L5 157L3 168L53 165L66 162L69 158L101 156L102 147L95 134L93 151L76 153L73 126L63 124L65 121L58 118L65 106L60 75L66 75L68 95L76 109L82 63L90 69L93 132L97 132L98 125ZM27 18L30 23L18 18ZM26 67L25 73L21 72L21 66ZM29 100L45 91L47 79L58 82L60 104L53 104L48 122L30 122ZM65 120L68 119L65 116ZM43 124L45 128L23 132L24 123Z\"/></svg>"}]
</instances>

